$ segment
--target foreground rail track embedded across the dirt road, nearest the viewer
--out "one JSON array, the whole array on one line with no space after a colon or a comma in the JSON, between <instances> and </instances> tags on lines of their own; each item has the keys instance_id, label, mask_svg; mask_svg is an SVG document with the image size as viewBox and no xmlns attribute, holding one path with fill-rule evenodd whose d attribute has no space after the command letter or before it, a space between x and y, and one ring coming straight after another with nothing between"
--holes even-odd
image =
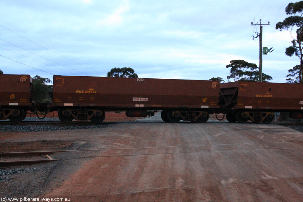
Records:
<instances>
[{"instance_id":1,"label":"foreground rail track embedded across the dirt road, nearest the viewer","mask_svg":"<svg viewBox=\"0 0 303 202\"><path fill-rule=\"evenodd\" d=\"M280 144L280 142L277 142ZM238 149L239 145L250 145L246 149ZM214 146L231 146L230 149L222 149L221 151L247 151L247 150L268 150L268 149L293 149L302 148L299 146L287 146L287 147L256 147L253 145L259 145L259 143L235 143L235 144L199 144L199 145L176 145L176 146L159 146L159 147L126 147L126 148L95 148L95 149L80 149L80 150L56 150L56 151L25 151L25 152L2 152L0 153L0 168L7 168L11 166L20 166L26 164L37 164L52 161L62 161L78 158L104 158L104 157L125 157L125 156L150 156L150 155L174 155L174 154L189 154L189 153L207 153L214 152L208 149L208 147ZM233 146L235 146L233 148ZM194 149L193 149L194 148ZM175 149L175 150L174 150ZM181 150L180 150L181 149ZM75 153L75 152L94 152L94 151L122 151L113 153L110 155L92 155L91 153L85 153L84 155L77 157L67 158L52 158L50 155L54 153ZM142 152L146 150L146 152ZM67 155L67 154L63 154Z\"/></svg>"}]
</instances>

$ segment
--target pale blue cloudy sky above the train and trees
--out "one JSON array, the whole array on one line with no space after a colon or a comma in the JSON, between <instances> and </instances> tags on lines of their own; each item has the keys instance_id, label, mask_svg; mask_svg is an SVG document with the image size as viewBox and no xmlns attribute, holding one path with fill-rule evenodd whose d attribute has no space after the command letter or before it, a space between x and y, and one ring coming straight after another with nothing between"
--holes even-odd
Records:
<instances>
[{"instance_id":1,"label":"pale blue cloudy sky above the train and trees","mask_svg":"<svg viewBox=\"0 0 303 202\"><path fill-rule=\"evenodd\" d=\"M285 83L299 58L285 55L289 31L275 29L292 1L1 0L0 69L4 74L106 76L130 67L139 78L227 82L231 60L259 66ZM254 37L252 37L254 36ZM253 40L254 39L254 40Z\"/></svg>"}]
</instances>

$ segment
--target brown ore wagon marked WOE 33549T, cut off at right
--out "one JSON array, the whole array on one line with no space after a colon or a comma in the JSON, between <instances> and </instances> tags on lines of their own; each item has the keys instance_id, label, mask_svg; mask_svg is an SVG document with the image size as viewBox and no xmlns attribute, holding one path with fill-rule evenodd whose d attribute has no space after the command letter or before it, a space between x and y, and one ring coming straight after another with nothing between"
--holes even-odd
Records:
<instances>
[{"instance_id":1,"label":"brown ore wagon marked WOE 33549T, cut off at right","mask_svg":"<svg viewBox=\"0 0 303 202\"><path fill-rule=\"evenodd\" d=\"M303 117L303 85L236 81L220 84L221 111L229 122L273 120L272 112Z\"/></svg>"}]
</instances>

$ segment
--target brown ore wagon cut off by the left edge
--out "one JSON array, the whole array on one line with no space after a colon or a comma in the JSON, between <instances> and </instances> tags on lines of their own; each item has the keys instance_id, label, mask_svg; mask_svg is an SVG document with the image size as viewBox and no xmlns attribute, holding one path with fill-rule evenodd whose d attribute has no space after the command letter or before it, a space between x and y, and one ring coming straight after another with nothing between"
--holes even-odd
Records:
<instances>
[{"instance_id":1,"label":"brown ore wagon cut off by the left edge","mask_svg":"<svg viewBox=\"0 0 303 202\"><path fill-rule=\"evenodd\" d=\"M0 120L22 121L33 107L30 75L0 74Z\"/></svg>"}]
</instances>

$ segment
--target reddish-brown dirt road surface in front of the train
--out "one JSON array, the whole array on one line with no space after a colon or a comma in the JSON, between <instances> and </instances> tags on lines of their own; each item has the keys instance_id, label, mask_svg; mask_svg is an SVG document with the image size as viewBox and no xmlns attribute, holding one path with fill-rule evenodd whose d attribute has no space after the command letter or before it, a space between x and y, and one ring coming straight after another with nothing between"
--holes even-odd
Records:
<instances>
[{"instance_id":1,"label":"reddish-brown dirt road surface in front of the train","mask_svg":"<svg viewBox=\"0 0 303 202\"><path fill-rule=\"evenodd\" d=\"M1 197L63 197L73 202L303 201L303 134L279 125L138 122L76 131L0 133L1 144L43 141L60 141L65 149L103 150L57 153L51 156L70 159L12 167L25 172L1 180Z\"/></svg>"}]
</instances>

